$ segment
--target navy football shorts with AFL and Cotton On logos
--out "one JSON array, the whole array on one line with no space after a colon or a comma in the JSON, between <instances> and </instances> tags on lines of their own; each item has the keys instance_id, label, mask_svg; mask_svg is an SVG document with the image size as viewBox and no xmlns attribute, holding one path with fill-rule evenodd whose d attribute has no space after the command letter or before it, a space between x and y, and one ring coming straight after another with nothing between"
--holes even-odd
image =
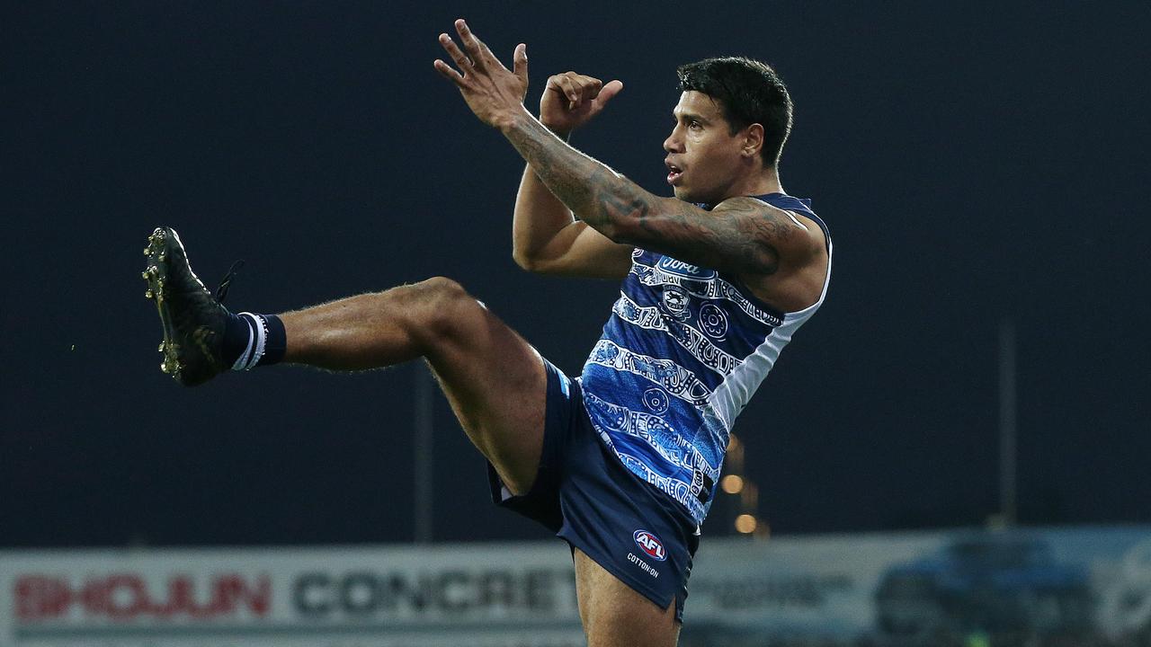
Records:
<instances>
[{"instance_id":1,"label":"navy football shorts with AFL and Cotton On logos","mask_svg":"<svg viewBox=\"0 0 1151 647\"><path fill-rule=\"evenodd\" d=\"M543 524L661 609L674 597L683 622L700 541L695 520L620 463L597 437L580 383L543 364L548 403L535 482L513 496L488 464L493 501Z\"/></svg>"}]
</instances>

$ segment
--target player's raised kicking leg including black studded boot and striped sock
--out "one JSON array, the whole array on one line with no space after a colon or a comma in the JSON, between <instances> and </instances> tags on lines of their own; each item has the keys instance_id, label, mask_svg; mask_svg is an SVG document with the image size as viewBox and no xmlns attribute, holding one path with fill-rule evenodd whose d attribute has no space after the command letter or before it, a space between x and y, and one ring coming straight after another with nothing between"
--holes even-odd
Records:
<instances>
[{"instance_id":1,"label":"player's raised kicking leg including black studded boot and striped sock","mask_svg":"<svg viewBox=\"0 0 1151 647\"><path fill-rule=\"evenodd\" d=\"M234 315L192 272L173 229L157 229L144 254L145 296L163 325L162 368L181 383L254 366L267 348L283 361L335 371L424 357L508 488L523 494L534 482L543 447L543 360L455 281L429 279L279 318Z\"/></svg>"}]
</instances>

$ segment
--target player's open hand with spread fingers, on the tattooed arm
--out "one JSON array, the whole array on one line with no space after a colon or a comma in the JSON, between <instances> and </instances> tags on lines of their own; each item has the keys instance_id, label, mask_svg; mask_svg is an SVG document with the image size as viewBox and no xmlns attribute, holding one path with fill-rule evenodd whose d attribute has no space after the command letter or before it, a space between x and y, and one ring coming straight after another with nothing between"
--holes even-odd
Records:
<instances>
[{"instance_id":1,"label":"player's open hand with spread fingers, on the tattooed arm","mask_svg":"<svg viewBox=\"0 0 1151 647\"><path fill-rule=\"evenodd\" d=\"M524 96L527 93L527 46L519 44L512 54L512 70L496 59L491 50L467 28L463 18L456 21L456 31L464 48L447 33L440 35L443 46L456 67L440 59L435 69L459 89L475 116L488 125L500 128L524 113ZM458 68L458 71L457 71Z\"/></svg>"}]
</instances>

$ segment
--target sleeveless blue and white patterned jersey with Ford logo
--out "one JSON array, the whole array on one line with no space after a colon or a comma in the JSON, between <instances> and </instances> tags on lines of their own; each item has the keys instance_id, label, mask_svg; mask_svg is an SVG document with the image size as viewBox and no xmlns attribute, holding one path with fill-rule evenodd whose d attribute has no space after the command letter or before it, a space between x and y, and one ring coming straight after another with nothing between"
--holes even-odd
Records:
<instances>
[{"instance_id":1,"label":"sleeveless blue and white patterned jersey with Ford logo","mask_svg":"<svg viewBox=\"0 0 1151 647\"><path fill-rule=\"evenodd\" d=\"M756 198L823 229L828 276L820 300L779 312L737 276L637 249L580 378L603 442L696 523L711 507L735 417L795 329L823 304L831 277L831 236L810 201L783 193Z\"/></svg>"}]
</instances>

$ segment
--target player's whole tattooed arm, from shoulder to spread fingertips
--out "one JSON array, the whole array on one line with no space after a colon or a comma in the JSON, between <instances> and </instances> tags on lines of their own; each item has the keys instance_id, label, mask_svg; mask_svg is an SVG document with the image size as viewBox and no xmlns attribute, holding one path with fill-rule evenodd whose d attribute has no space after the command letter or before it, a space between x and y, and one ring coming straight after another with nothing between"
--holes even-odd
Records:
<instances>
[{"instance_id":1,"label":"player's whole tattooed arm, from shoulder to spread fingertips","mask_svg":"<svg viewBox=\"0 0 1151 647\"><path fill-rule=\"evenodd\" d=\"M475 116L500 129L559 201L608 239L737 274L773 274L782 258L803 265L817 254L822 233L783 210L732 198L707 212L645 191L572 149L524 107L526 46L516 47L512 71L464 21L456 21L456 30L466 53L447 33L440 44L460 71L441 60L436 70L456 84Z\"/></svg>"}]
</instances>

